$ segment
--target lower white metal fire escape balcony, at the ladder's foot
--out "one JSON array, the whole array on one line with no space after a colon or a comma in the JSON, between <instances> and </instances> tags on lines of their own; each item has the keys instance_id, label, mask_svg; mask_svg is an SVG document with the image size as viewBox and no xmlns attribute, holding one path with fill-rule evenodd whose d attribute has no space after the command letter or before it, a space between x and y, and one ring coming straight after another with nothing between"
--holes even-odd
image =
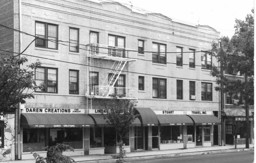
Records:
<instances>
[{"instance_id":1,"label":"lower white metal fire escape balcony, at the ladder's foot","mask_svg":"<svg viewBox=\"0 0 256 163\"><path fill-rule=\"evenodd\" d=\"M94 98L113 98L114 96L120 99L138 99L138 89L113 86L93 86L93 92L91 92L91 97Z\"/></svg>"}]
</instances>

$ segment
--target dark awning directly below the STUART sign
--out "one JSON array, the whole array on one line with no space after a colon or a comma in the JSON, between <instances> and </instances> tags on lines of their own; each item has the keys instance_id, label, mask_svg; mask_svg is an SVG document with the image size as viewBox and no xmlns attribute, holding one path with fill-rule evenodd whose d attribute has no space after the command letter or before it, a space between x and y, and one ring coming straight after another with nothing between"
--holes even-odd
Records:
<instances>
[{"instance_id":1,"label":"dark awning directly below the STUART sign","mask_svg":"<svg viewBox=\"0 0 256 163\"><path fill-rule=\"evenodd\" d=\"M159 123L162 126L172 125L194 125L193 120L187 115L160 115L157 114Z\"/></svg>"}]
</instances>

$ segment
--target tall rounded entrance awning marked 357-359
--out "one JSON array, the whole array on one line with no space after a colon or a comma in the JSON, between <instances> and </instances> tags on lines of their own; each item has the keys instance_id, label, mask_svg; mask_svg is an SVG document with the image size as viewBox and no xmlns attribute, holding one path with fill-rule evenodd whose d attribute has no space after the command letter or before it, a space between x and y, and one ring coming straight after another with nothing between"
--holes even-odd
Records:
<instances>
[{"instance_id":1,"label":"tall rounded entrance awning marked 357-359","mask_svg":"<svg viewBox=\"0 0 256 163\"><path fill-rule=\"evenodd\" d=\"M147 107L137 107L136 110L143 126L158 126L158 118L153 110Z\"/></svg>"}]
</instances>

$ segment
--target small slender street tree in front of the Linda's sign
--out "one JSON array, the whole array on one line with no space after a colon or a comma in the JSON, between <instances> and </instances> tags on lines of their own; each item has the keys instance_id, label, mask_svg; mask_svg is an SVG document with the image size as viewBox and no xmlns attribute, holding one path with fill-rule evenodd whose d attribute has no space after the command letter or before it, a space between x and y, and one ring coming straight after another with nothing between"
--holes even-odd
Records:
<instances>
[{"instance_id":1,"label":"small slender street tree in front of the Linda's sign","mask_svg":"<svg viewBox=\"0 0 256 163\"><path fill-rule=\"evenodd\" d=\"M109 109L107 116L104 117L106 122L113 127L117 134L119 135L119 155L112 156L114 158L118 158L117 162L122 162L125 151L122 147L122 137L127 129L129 129L130 125L134 121L134 119L138 116L135 114L135 106L136 101L128 100L128 99L118 99L114 97L108 101L106 101L106 108Z\"/></svg>"}]
</instances>

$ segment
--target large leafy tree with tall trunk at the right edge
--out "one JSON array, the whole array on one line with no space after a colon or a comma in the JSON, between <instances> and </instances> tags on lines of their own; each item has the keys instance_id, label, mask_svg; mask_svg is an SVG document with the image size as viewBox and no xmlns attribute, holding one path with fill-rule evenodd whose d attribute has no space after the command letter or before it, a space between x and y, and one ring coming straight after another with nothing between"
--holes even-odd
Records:
<instances>
[{"instance_id":1,"label":"large leafy tree with tall trunk at the right edge","mask_svg":"<svg viewBox=\"0 0 256 163\"><path fill-rule=\"evenodd\" d=\"M251 10L254 13L254 9ZM221 38L221 47L214 43L212 52L220 62L221 69L213 67L211 75L217 77L215 90L235 94L239 105L246 111L246 148L249 148L249 105L254 105L254 17L248 14L245 20L235 21L235 34L229 39ZM244 74L244 80L232 80L223 74L231 69Z\"/></svg>"}]
</instances>

